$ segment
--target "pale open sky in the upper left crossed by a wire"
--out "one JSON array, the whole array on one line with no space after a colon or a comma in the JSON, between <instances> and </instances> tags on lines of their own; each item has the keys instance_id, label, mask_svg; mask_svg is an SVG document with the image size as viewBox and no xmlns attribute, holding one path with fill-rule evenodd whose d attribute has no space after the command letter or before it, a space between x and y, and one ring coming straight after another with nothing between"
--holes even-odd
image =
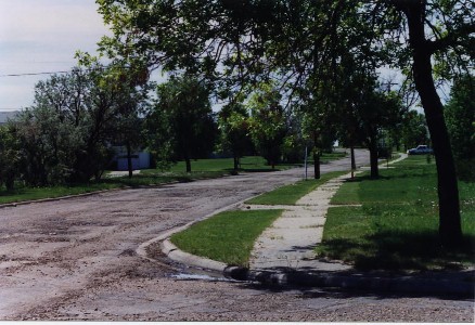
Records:
<instances>
[{"instance_id":1,"label":"pale open sky in the upper left crossed by a wire","mask_svg":"<svg viewBox=\"0 0 475 325\"><path fill-rule=\"evenodd\" d=\"M0 0L0 112L34 102L38 74L69 70L75 53L95 53L110 34L94 0Z\"/></svg>"}]
</instances>

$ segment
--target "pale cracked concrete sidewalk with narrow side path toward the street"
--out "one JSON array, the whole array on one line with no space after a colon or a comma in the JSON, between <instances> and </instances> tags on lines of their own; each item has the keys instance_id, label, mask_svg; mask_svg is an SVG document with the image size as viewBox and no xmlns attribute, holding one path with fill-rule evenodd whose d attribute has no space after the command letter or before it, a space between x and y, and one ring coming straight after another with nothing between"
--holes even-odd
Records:
<instances>
[{"instance_id":1,"label":"pale cracked concrete sidewalk with narrow side path toward the street","mask_svg":"<svg viewBox=\"0 0 475 325\"><path fill-rule=\"evenodd\" d=\"M394 164L406 159L401 154ZM383 167L383 166L382 166ZM384 167L383 167L384 168ZM356 173L362 172L357 171ZM295 206L253 206L246 209L284 209L282 216L256 240L252 253L251 270L275 270L290 268L295 271L348 271L350 265L317 259L314 247L321 243L330 200L339 186L351 178L346 173L331 179L313 192L301 197Z\"/></svg>"}]
</instances>

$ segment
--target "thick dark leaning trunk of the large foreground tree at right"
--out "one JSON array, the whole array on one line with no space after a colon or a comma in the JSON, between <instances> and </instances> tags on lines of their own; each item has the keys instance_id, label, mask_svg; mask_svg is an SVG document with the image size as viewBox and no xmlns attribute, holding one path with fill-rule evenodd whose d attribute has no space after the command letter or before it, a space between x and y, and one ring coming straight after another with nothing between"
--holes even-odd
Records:
<instances>
[{"instance_id":1,"label":"thick dark leaning trunk of the large foreground tree at right","mask_svg":"<svg viewBox=\"0 0 475 325\"><path fill-rule=\"evenodd\" d=\"M434 146L438 176L439 235L445 247L462 242L459 188L449 134L444 118L444 106L434 86L431 56L424 34L423 4L411 6L408 16L410 44L413 51L415 88L421 96L431 140Z\"/></svg>"}]
</instances>

